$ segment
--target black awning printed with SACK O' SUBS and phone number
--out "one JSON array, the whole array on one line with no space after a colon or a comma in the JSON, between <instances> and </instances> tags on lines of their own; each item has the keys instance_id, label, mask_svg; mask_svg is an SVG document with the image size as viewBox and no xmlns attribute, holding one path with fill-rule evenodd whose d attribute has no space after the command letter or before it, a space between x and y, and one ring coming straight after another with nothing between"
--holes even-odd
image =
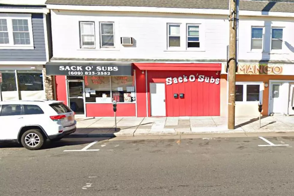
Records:
<instances>
[{"instance_id":1,"label":"black awning printed with SACK O' SUBS and phone number","mask_svg":"<svg viewBox=\"0 0 294 196\"><path fill-rule=\"evenodd\" d=\"M132 63L47 62L46 75L132 76Z\"/></svg>"}]
</instances>

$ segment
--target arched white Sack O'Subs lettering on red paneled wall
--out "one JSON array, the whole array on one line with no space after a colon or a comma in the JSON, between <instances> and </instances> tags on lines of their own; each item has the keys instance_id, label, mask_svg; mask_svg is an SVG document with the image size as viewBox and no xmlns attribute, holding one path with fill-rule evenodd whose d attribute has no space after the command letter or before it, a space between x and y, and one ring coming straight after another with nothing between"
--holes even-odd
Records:
<instances>
[{"instance_id":1,"label":"arched white Sack O'Subs lettering on red paneled wall","mask_svg":"<svg viewBox=\"0 0 294 196\"><path fill-rule=\"evenodd\" d=\"M219 84L220 83L220 79L219 78L214 78L213 76L209 77L209 76L205 76L205 75L199 75L198 74L195 75L190 75L189 78L185 75L180 76L180 77L168 77L166 79L166 84L167 85L171 85L172 83L183 83L183 82L195 82L196 79L198 80L198 82L206 82L206 83L214 83L214 84Z\"/></svg>"}]
</instances>

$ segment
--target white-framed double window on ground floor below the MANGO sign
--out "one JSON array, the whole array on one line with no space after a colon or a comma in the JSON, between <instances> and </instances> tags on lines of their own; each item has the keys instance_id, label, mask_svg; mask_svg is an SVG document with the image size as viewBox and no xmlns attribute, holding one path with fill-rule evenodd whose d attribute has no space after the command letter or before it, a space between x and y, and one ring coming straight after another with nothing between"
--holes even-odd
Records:
<instances>
[{"instance_id":1,"label":"white-framed double window on ground floor below the MANGO sign","mask_svg":"<svg viewBox=\"0 0 294 196\"><path fill-rule=\"evenodd\" d=\"M262 102L262 82L236 82L236 102Z\"/></svg>"}]
</instances>

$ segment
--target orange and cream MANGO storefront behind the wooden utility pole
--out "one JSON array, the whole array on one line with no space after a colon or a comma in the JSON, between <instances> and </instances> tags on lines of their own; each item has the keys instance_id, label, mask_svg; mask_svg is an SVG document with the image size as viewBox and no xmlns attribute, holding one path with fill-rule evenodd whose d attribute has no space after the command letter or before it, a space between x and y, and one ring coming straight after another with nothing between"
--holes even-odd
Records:
<instances>
[{"instance_id":1,"label":"orange and cream MANGO storefront behind the wooden utility pole","mask_svg":"<svg viewBox=\"0 0 294 196\"><path fill-rule=\"evenodd\" d=\"M227 79L223 65L221 78ZM227 108L227 85L223 85L221 105ZM236 72L236 116L259 116L258 104L262 103L262 115L294 115L293 105L294 65L239 63ZM224 98L226 97L226 98ZM221 116L227 116L222 110Z\"/></svg>"}]
</instances>

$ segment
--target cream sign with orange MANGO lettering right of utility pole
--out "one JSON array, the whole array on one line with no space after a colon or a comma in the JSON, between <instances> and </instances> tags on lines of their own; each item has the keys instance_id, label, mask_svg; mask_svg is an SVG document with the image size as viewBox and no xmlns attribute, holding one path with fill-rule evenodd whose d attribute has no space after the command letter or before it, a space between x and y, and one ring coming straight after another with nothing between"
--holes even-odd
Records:
<instances>
[{"instance_id":1,"label":"cream sign with orange MANGO lettering right of utility pole","mask_svg":"<svg viewBox=\"0 0 294 196\"><path fill-rule=\"evenodd\" d=\"M283 68L280 65L238 65L237 74L270 74L280 75Z\"/></svg>"}]
</instances>

